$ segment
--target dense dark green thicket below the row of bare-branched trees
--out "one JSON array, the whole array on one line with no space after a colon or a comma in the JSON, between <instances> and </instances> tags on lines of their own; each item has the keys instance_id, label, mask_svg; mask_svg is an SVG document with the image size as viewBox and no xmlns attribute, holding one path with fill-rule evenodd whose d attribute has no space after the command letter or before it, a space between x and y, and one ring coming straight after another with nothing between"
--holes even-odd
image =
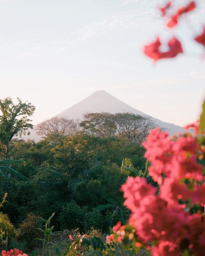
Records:
<instances>
[{"instance_id":1,"label":"dense dark green thicket below the row of bare-branched trees","mask_svg":"<svg viewBox=\"0 0 205 256\"><path fill-rule=\"evenodd\" d=\"M27 213L48 218L55 212L55 229L108 231L122 212L124 219L129 214L122 206L120 187L127 175L121 162L129 157L136 169L144 170L143 155L144 148L126 138L56 132L38 143L13 139L11 156L23 164L14 162L12 168L26 179L12 174L0 178L1 197L8 193L2 211L15 226ZM105 209L99 211L99 205Z\"/></svg>"}]
</instances>

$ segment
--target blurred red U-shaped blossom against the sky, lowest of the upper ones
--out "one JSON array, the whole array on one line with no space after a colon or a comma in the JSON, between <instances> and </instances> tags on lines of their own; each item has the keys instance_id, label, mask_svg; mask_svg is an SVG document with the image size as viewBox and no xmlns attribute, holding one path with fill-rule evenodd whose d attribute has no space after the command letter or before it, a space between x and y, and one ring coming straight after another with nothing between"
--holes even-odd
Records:
<instances>
[{"instance_id":1,"label":"blurred red U-shaped blossom against the sky, lowest of the upper ones","mask_svg":"<svg viewBox=\"0 0 205 256\"><path fill-rule=\"evenodd\" d=\"M144 53L151 59L154 59L154 61L157 61L158 59L174 58L179 53L183 53L181 43L175 37L169 40L169 50L167 52L161 52L159 50L159 47L161 45L162 43L160 42L158 37L155 42L144 46Z\"/></svg>"}]
</instances>

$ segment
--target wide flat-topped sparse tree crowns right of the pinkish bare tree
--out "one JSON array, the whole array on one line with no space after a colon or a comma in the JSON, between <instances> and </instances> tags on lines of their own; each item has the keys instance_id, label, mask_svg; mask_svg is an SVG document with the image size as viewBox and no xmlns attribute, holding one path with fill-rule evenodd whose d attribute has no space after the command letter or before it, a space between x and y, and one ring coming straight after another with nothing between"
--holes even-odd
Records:
<instances>
[{"instance_id":1,"label":"wide flat-topped sparse tree crowns right of the pinkish bare tree","mask_svg":"<svg viewBox=\"0 0 205 256\"><path fill-rule=\"evenodd\" d=\"M142 143L149 131L155 127L150 117L126 113L89 113L84 115L80 126L100 137L125 137L130 143Z\"/></svg>"}]
</instances>

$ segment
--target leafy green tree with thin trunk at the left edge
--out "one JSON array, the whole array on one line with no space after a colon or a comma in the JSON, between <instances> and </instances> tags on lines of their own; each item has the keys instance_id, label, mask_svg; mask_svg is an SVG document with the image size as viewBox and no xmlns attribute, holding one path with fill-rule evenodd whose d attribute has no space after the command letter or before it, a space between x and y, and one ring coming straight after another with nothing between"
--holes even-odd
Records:
<instances>
[{"instance_id":1,"label":"leafy green tree with thin trunk at the left edge","mask_svg":"<svg viewBox=\"0 0 205 256\"><path fill-rule=\"evenodd\" d=\"M12 99L7 97L0 100L0 142L5 145L6 158L10 159L10 142L14 136L21 137L29 135L28 129L32 129L30 117L35 110L34 105L29 102L22 102L20 98L18 104L14 104Z\"/></svg>"}]
</instances>

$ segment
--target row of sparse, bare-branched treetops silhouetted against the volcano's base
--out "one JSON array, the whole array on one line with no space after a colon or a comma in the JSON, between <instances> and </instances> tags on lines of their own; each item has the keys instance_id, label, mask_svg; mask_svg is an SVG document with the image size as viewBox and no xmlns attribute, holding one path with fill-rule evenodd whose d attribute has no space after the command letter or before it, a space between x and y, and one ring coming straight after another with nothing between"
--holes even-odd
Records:
<instances>
[{"instance_id":1,"label":"row of sparse, bare-branched treetops silhouetted against the volcano's base","mask_svg":"<svg viewBox=\"0 0 205 256\"><path fill-rule=\"evenodd\" d=\"M155 127L155 123L147 116L125 113L88 113L79 119L66 119L53 117L40 123L36 127L36 133L47 136L49 133L59 132L63 135L73 135L79 131L98 137L127 138L130 143L141 143L147 137L149 131Z\"/></svg>"}]
</instances>

